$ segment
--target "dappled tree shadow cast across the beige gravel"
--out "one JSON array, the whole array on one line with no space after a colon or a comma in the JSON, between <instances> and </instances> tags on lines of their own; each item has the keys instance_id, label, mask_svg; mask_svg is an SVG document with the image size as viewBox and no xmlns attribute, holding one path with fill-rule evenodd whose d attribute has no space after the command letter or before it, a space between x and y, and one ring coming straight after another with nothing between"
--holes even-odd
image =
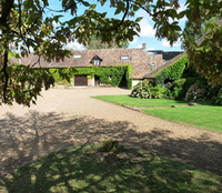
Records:
<instances>
[{"instance_id":1,"label":"dappled tree shadow cast across the beige gravel","mask_svg":"<svg viewBox=\"0 0 222 193\"><path fill-rule=\"evenodd\" d=\"M121 144L155 152L193 165L195 169L222 175L222 144L204 134L198 139L170 138L169 131L157 128L137 132L130 122L109 122L90 116L73 116L36 111L0 120L0 182L20 165L71 145L87 145L119 140Z\"/></svg>"}]
</instances>

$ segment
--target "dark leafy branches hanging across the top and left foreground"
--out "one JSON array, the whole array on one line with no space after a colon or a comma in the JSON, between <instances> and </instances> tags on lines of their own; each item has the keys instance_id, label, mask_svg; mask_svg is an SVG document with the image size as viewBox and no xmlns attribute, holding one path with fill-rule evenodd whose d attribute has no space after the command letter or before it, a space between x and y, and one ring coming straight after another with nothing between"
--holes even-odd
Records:
<instances>
[{"instance_id":1,"label":"dark leafy branches hanging across the top and left foreground","mask_svg":"<svg viewBox=\"0 0 222 193\"><path fill-rule=\"evenodd\" d=\"M100 37L107 43L112 42L113 37L117 44L132 41L140 32L139 22L142 18L135 18L140 9L147 11L155 22L157 38L167 38L171 44L184 34L179 26L179 20L183 17L188 18L188 23L193 26L193 31L198 34L203 18L221 17L222 12L219 9L222 8L221 0L186 0L186 9L181 12L178 11L178 0L98 0L98 4L109 3L115 9L117 18L121 17L115 19L107 18L107 12L99 12L93 1L59 2L61 10L52 10L48 0L0 0L0 103L11 104L16 101L29 105L34 102L42 84L48 89L53 80L47 70L33 70L32 67L40 67L41 58L50 61L69 57L70 51L63 47L70 41L77 40L87 45L92 35ZM78 14L80 6L85 8L82 14ZM72 18L63 21L64 12ZM202 61L200 65L196 62L200 54L192 58L192 51L198 50L199 45L195 41L190 41L190 37L185 39L185 42L189 41L186 49L190 59L214 83L221 83L221 64L218 64L221 62L219 48L222 48L220 34L221 27L214 22L209 26L205 40L201 43L201 47L205 44L204 49L211 50L209 55L213 62L210 64ZM210 43L211 40L214 44ZM36 63L30 63L29 67L18 63L11 65L13 60L10 58L27 57L30 52L39 55ZM205 52L200 53L202 55Z\"/></svg>"}]
</instances>

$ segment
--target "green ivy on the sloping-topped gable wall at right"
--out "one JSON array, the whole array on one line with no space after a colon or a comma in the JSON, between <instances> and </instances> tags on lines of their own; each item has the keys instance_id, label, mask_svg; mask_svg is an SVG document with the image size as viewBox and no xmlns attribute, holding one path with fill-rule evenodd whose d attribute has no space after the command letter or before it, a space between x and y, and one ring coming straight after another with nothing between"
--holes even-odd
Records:
<instances>
[{"instance_id":1,"label":"green ivy on the sloping-topped gable wall at right","mask_svg":"<svg viewBox=\"0 0 222 193\"><path fill-rule=\"evenodd\" d=\"M162 69L154 75L155 84L163 84L165 80L174 81L181 79L185 70L185 64L188 63L188 55L180 58L178 61L171 65Z\"/></svg>"}]
</instances>

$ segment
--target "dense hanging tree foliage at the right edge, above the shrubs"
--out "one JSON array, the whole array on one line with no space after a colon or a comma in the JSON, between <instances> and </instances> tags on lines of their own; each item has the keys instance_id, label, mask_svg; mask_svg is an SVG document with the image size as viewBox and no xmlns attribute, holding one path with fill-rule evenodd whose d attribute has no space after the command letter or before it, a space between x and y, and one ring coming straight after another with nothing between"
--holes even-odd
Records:
<instances>
[{"instance_id":1,"label":"dense hanging tree foliage at the right edge, above the shrubs","mask_svg":"<svg viewBox=\"0 0 222 193\"><path fill-rule=\"evenodd\" d=\"M191 23L186 24L183 42L190 67L205 77L212 85L222 84L222 23L218 17L202 19L199 33Z\"/></svg>"}]
</instances>

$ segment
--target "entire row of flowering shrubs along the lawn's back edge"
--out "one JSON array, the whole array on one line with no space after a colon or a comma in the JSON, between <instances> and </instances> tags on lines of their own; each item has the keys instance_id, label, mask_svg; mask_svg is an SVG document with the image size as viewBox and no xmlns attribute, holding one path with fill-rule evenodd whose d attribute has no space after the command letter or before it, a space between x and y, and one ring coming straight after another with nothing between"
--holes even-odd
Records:
<instances>
[{"instance_id":1,"label":"entire row of flowering shrubs along the lawn's back edge","mask_svg":"<svg viewBox=\"0 0 222 193\"><path fill-rule=\"evenodd\" d=\"M172 83L168 82L164 87L161 84L153 87L149 81L139 82L130 95L141 99L185 98L185 101L211 100L214 104L222 105L222 88L211 88L206 82L198 80L189 89L183 89L185 81L185 79L179 79Z\"/></svg>"}]
</instances>

